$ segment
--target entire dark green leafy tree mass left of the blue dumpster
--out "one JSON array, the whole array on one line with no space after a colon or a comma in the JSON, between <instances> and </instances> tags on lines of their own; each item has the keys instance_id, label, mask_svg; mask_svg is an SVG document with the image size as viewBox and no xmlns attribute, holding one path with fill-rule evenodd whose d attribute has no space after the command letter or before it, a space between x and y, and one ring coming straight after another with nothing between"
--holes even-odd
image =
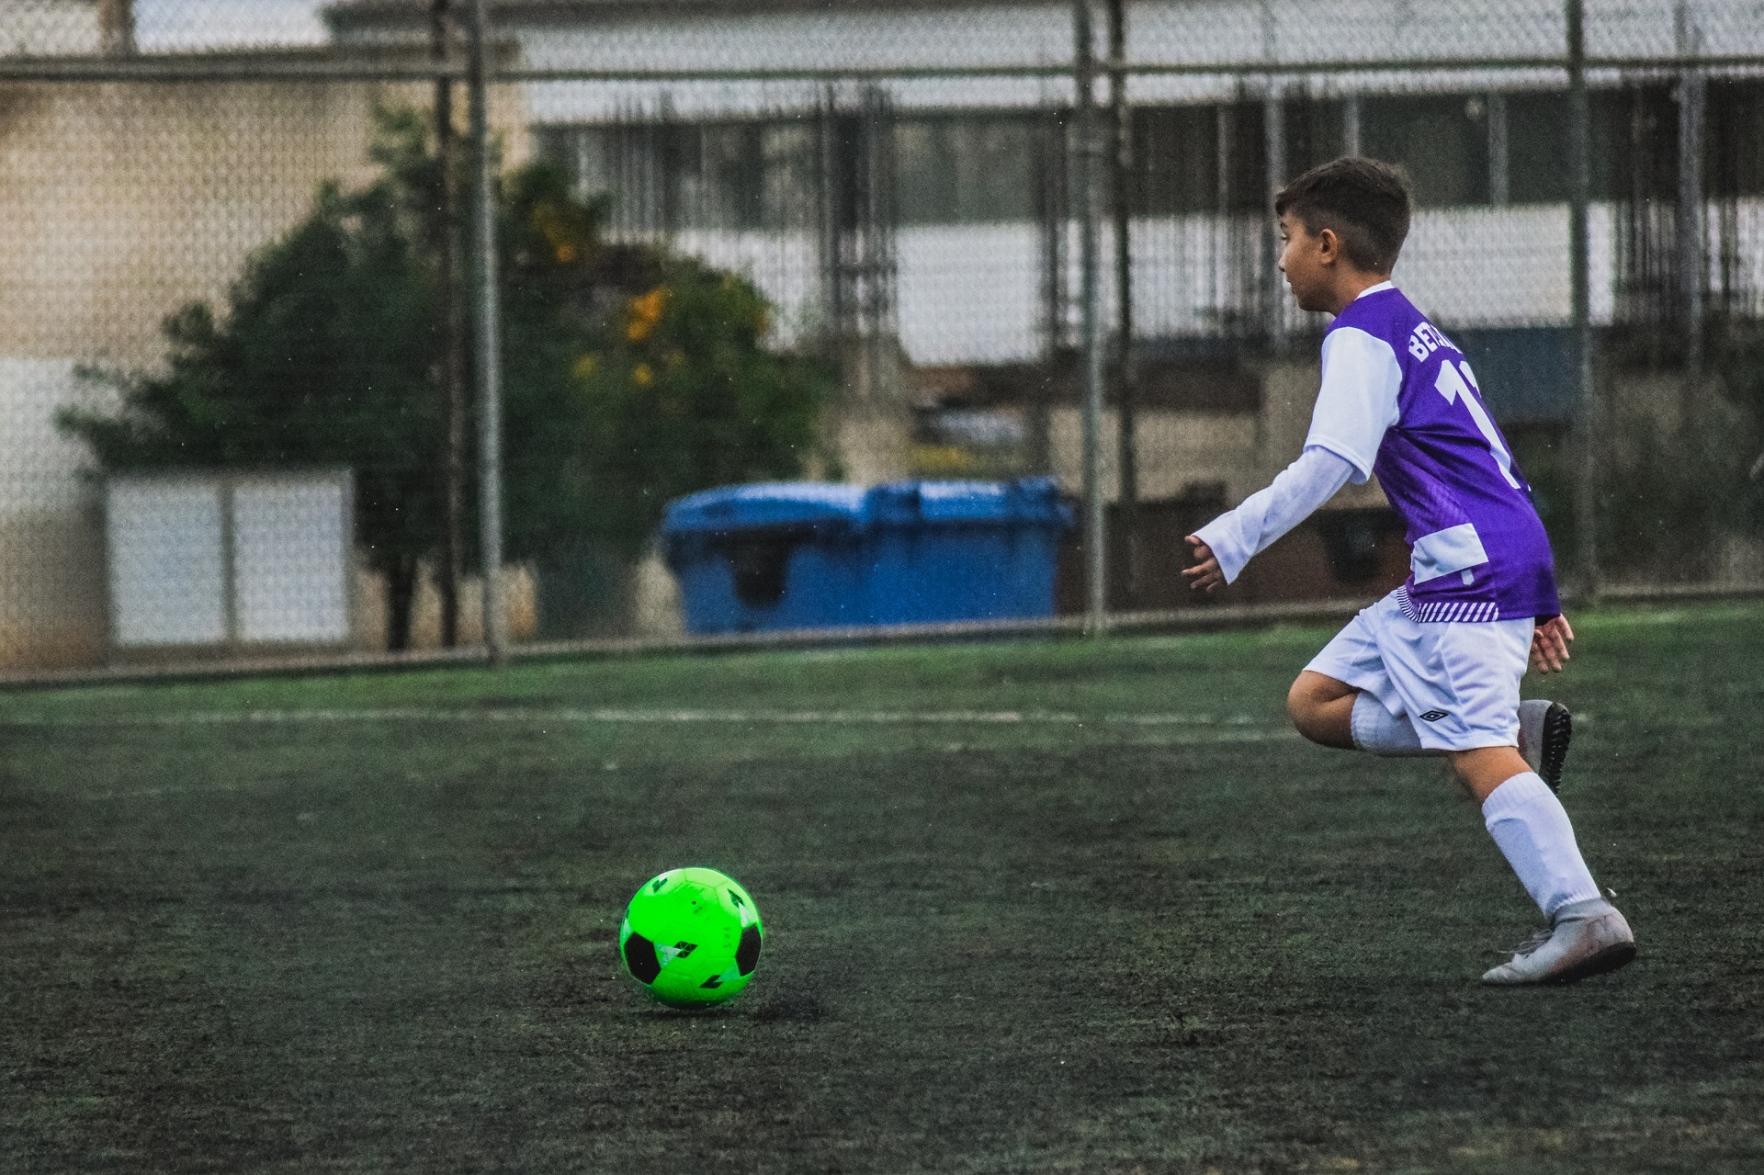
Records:
<instances>
[{"instance_id":1,"label":"entire dark green leafy tree mass left of the blue dumpster","mask_svg":"<svg viewBox=\"0 0 1764 1175\"><path fill-rule=\"evenodd\" d=\"M321 187L310 215L247 263L224 316L164 325L152 372L88 372L116 413L65 411L108 471L349 466L356 542L409 644L441 543L445 397L434 249L439 164L416 113L383 113L365 189ZM607 242L602 210L534 164L497 198L505 503L512 559L602 543L632 559L669 498L796 476L818 452L831 372L767 346L744 279ZM475 526L473 526L475 533Z\"/></svg>"}]
</instances>

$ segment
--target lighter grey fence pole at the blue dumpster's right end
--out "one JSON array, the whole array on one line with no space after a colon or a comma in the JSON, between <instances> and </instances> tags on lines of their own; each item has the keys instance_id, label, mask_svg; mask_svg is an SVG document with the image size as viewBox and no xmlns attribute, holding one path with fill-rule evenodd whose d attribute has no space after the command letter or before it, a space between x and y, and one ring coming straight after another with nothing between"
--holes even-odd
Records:
<instances>
[{"instance_id":1,"label":"lighter grey fence pole at the blue dumpster's right end","mask_svg":"<svg viewBox=\"0 0 1764 1175\"><path fill-rule=\"evenodd\" d=\"M1097 116L1095 116L1095 34L1090 0L1073 5L1074 41L1078 49L1078 240L1080 289L1083 302L1085 356L1085 628L1092 635L1108 625L1108 591L1104 558L1106 513L1102 505L1102 282L1099 261L1102 242L1097 224Z\"/></svg>"}]
</instances>

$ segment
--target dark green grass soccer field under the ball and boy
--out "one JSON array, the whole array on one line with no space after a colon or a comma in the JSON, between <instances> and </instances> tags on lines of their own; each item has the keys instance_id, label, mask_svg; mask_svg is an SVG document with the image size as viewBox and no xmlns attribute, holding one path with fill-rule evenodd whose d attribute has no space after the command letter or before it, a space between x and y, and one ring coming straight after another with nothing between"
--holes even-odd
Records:
<instances>
[{"instance_id":1,"label":"dark green grass soccer field under the ball and boy","mask_svg":"<svg viewBox=\"0 0 1764 1175\"><path fill-rule=\"evenodd\" d=\"M0 1170L1764 1170L1764 605L1577 621L1642 958L1542 992L1441 764L1284 729L1325 630L0 693Z\"/></svg>"}]
</instances>

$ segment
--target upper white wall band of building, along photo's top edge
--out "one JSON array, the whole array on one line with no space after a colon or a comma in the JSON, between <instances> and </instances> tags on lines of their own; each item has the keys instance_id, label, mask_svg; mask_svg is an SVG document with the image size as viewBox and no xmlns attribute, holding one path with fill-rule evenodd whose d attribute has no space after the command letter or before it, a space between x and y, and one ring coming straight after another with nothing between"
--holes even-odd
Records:
<instances>
[{"instance_id":1,"label":"upper white wall band of building, along photo's top edge","mask_svg":"<svg viewBox=\"0 0 1764 1175\"><path fill-rule=\"evenodd\" d=\"M16 0L14 0L16 2ZM1671 58L1683 51L1764 55L1764 9L1757 0L1623 0L1588 5L1593 58ZM1073 12L1064 2L974 5L877 5L776 9L732 14L589 9L580 25L503 18L520 44L522 65L542 71L737 74L810 69L914 71L1064 67L1073 60ZM422 42L413 5L397 32L346 30L346 42ZM1136 97L1210 101L1237 92L1256 64L1480 62L1556 58L1566 51L1561 0L1476 0L1473 5L1415 0L1164 0L1129 9L1127 56L1147 67L1224 64L1219 74L1141 76ZM1492 74L1482 74L1489 78ZM1607 78L1609 79L1609 78ZM1311 94L1408 92L1461 86L1462 71L1288 74L1279 88ZM1503 71L1501 85L1561 85L1559 69ZM1065 95L1050 78L887 79L900 109L1023 108ZM669 101L681 115L757 113L806 108L826 95L820 81L677 81ZM540 122L609 118L621 106L653 99L640 81L543 83L531 95Z\"/></svg>"}]
</instances>

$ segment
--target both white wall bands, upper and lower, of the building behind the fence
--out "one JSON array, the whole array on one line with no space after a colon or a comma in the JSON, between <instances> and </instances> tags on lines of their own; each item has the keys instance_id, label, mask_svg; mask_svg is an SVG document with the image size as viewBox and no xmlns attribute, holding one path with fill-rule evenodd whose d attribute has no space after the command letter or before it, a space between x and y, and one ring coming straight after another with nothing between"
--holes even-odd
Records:
<instances>
[{"instance_id":1,"label":"both white wall bands, upper and lower, of the building behind the fence","mask_svg":"<svg viewBox=\"0 0 1764 1175\"><path fill-rule=\"evenodd\" d=\"M1589 5L1593 56L1671 58L1681 51L1764 56L1759 0L1625 0ZM662 19L633 11L600 12L568 25L549 18L505 21L520 60L540 71L887 71L1058 67L1073 55L1071 5L974 4L871 9L778 9ZM420 35L413 25L411 35ZM1466 62L1559 56L1566 28L1561 0L1478 0L1473 7L1413 0L1184 0L1136 4L1129 12L1129 60L1145 65L1214 62L1252 67L1334 65L1351 60ZM1221 101L1256 94L1415 92L1466 86L1561 86L1559 69L1383 71L1254 78L1147 74L1134 101ZM1062 76L891 78L880 83L905 115L937 109L1046 108L1071 101ZM856 83L804 81L547 81L526 86L538 123L628 120L635 111L730 118L808 109ZM1752 215L1752 213L1748 213ZM1222 289L1245 277L1240 258L1221 256L1217 217L1140 219L1145 245L1134 265L1140 330L1147 337L1219 328L1217 307L1267 316L1284 298ZM1612 210L1591 222L1593 318L1614 311ZM1755 231L1748 229L1755 240ZM714 265L748 273L781 309L787 330L813 323L822 303L815 240L799 235L686 233L676 243ZM1750 240L1748 240L1750 243ZM1759 242L1764 243L1764 242ZM1110 240L1104 228L1104 258ZM1272 252L1272 235L1268 240ZM1043 351L1044 307L1037 228L1028 222L903 226L896 235L901 344L914 363L995 363ZM1078 288L1076 231L1067 240ZM1743 256L1757 256L1743 251ZM1265 279L1272 279L1272 268ZM1454 326L1566 325L1570 311L1568 210L1565 205L1466 206L1422 212L1397 272L1413 296ZM1106 286L1106 282L1104 282ZM1284 291L1281 291L1284 295ZM1113 291L1106 289L1113 302ZM1245 305L1245 300L1251 303ZM1304 316L1277 309L1284 328Z\"/></svg>"}]
</instances>

